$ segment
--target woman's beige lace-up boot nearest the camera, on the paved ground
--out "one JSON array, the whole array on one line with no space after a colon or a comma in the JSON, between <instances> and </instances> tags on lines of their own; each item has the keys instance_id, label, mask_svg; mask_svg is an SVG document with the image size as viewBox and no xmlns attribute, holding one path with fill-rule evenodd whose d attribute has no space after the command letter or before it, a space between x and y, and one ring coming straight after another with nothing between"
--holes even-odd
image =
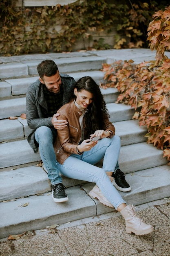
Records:
<instances>
[{"instance_id":1,"label":"woman's beige lace-up boot nearest the camera, on the paved ground","mask_svg":"<svg viewBox=\"0 0 170 256\"><path fill-rule=\"evenodd\" d=\"M125 219L127 233L135 233L137 236L142 236L154 231L151 225L146 224L137 216L132 204L126 206L120 213Z\"/></svg>"}]
</instances>

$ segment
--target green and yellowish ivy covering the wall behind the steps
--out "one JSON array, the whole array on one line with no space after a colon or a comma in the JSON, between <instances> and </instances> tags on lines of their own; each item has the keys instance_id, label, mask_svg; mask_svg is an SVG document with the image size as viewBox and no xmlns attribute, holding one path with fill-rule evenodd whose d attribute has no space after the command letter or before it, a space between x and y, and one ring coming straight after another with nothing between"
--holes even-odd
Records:
<instances>
[{"instance_id":1,"label":"green and yellowish ivy covering the wall behind the steps","mask_svg":"<svg viewBox=\"0 0 170 256\"><path fill-rule=\"evenodd\" d=\"M163 1L161 1L162 4ZM114 48L147 47L146 31L159 1L84 0L53 7L16 7L15 1L0 3L0 54L19 55L72 51L77 40L93 42L95 49L109 49L104 38L115 35Z\"/></svg>"}]
</instances>

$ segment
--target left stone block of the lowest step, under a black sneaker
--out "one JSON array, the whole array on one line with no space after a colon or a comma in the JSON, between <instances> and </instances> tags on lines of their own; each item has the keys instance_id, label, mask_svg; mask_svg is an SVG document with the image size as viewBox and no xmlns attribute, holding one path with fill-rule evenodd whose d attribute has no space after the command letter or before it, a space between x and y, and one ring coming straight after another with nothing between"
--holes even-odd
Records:
<instances>
[{"instance_id":1,"label":"left stone block of the lowest step, under a black sneaker","mask_svg":"<svg viewBox=\"0 0 170 256\"><path fill-rule=\"evenodd\" d=\"M79 186L66 189L66 193L69 200L60 204L49 193L0 203L0 238L96 215L95 202ZM29 205L19 207L25 203Z\"/></svg>"}]
</instances>

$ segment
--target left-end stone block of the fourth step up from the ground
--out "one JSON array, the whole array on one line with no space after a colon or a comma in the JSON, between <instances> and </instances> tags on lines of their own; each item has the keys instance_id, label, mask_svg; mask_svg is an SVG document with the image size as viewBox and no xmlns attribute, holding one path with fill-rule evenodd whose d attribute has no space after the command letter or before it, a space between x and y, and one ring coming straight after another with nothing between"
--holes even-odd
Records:
<instances>
[{"instance_id":1,"label":"left-end stone block of the fourth step up from the ground","mask_svg":"<svg viewBox=\"0 0 170 256\"><path fill-rule=\"evenodd\" d=\"M0 142L22 138L24 138L24 129L17 119L0 120Z\"/></svg>"}]
</instances>

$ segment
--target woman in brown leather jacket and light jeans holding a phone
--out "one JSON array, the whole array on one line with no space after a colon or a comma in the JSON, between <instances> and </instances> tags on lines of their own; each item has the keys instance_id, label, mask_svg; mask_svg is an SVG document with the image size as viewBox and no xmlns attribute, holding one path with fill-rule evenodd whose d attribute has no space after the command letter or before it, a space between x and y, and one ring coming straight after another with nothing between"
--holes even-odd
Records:
<instances>
[{"instance_id":1,"label":"woman in brown leather jacket and light jeans holding a phone","mask_svg":"<svg viewBox=\"0 0 170 256\"><path fill-rule=\"evenodd\" d=\"M75 84L73 100L62 106L57 119L67 120L68 125L58 130L54 148L57 167L62 175L88 182L96 186L89 193L100 202L107 202L121 213L126 221L126 231L145 235L154 229L144 223L135 213L133 205L126 205L110 182L120 151L120 138L109 121L106 103L99 86L90 76ZM99 136L98 141L92 138ZM103 166L94 166L103 159Z\"/></svg>"}]
</instances>

